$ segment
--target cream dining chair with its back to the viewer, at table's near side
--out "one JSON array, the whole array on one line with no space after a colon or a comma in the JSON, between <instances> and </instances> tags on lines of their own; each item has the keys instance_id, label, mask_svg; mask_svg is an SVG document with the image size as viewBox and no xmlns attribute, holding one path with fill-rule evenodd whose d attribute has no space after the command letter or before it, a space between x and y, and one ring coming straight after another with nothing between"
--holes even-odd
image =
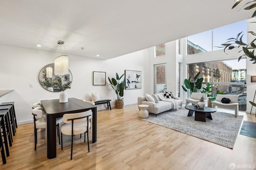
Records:
<instances>
[{"instance_id":1,"label":"cream dining chair with its back to the viewer, at table's near side","mask_svg":"<svg viewBox=\"0 0 256 170\"><path fill-rule=\"evenodd\" d=\"M63 150L63 140L62 134L71 135L71 160L72 160L72 153L73 153L73 137L76 134L84 133L84 142L85 142L85 133L87 132L87 143L88 143L88 152L90 152L89 148L89 128L91 123L88 121L88 117L90 115L86 115L85 112L82 113L72 113L72 114L64 114L63 115L63 122L62 126L60 127L61 132L61 150Z\"/></svg>"}]
</instances>

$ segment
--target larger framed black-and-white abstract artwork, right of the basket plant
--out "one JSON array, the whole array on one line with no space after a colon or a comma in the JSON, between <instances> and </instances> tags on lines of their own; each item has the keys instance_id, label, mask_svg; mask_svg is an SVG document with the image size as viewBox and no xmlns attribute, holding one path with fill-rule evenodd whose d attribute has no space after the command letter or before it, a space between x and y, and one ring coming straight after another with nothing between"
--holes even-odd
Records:
<instances>
[{"instance_id":1,"label":"larger framed black-and-white abstract artwork, right of the basket plant","mask_svg":"<svg viewBox=\"0 0 256 170\"><path fill-rule=\"evenodd\" d=\"M141 71L125 70L125 89L141 89Z\"/></svg>"}]
</instances>

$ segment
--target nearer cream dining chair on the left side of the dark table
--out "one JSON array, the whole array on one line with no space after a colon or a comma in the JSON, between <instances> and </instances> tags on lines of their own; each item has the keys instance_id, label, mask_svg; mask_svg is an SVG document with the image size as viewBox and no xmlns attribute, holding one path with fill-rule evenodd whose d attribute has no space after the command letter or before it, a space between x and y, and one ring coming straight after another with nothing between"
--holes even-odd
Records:
<instances>
[{"instance_id":1,"label":"nearer cream dining chair on the left side of the dark table","mask_svg":"<svg viewBox=\"0 0 256 170\"><path fill-rule=\"evenodd\" d=\"M47 122L44 117L44 112L42 107L36 107L33 109L32 113L34 117L34 136L35 136L35 150L37 144L37 130L40 128L46 128Z\"/></svg>"}]
</instances>

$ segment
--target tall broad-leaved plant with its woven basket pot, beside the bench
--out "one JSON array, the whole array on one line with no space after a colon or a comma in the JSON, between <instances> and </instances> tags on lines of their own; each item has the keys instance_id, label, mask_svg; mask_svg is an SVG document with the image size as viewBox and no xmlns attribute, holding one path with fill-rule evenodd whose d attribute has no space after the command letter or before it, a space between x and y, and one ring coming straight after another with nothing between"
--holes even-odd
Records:
<instances>
[{"instance_id":1,"label":"tall broad-leaved plant with its woven basket pot, beside the bench","mask_svg":"<svg viewBox=\"0 0 256 170\"><path fill-rule=\"evenodd\" d=\"M114 91L116 92L116 108L117 109L122 109L124 108L124 98L121 98L124 96L124 82L125 82L125 77L123 79L123 81L120 80L122 79L122 77L124 76L124 74L122 74L120 77L118 76L118 73L116 73L116 79L112 78L110 79L108 77L108 81L110 82L111 87L114 89Z\"/></svg>"}]
</instances>

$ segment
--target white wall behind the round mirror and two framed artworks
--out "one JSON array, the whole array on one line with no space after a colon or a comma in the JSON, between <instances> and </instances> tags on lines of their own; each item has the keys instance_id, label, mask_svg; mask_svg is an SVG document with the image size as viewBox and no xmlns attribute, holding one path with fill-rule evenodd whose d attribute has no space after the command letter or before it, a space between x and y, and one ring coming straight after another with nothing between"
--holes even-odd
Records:
<instances>
[{"instance_id":1,"label":"white wall behind the round mirror and two framed artworks","mask_svg":"<svg viewBox=\"0 0 256 170\"><path fill-rule=\"evenodd\" d=\"M59 93L53 93L41 87L38 74L42 67L54 63L56 53L0 45L0 89L14 89L12 93L0 98L2 102L15 102L16 117L19 124L32 122L32 104L43 99L58 98ZM116 94L110 87L107 77L121 75L124 70L142 71L142 89L124 91L124 105L137 103L137 97L148 91L148 49L116 57L109 60L99 60L88 57L69 55L69 69L73 80L71 89L67 89L68 97L85 98L91 101L92 92L100 93L100 99L111 99L115 106ZM106 72L106 85L92 84L93 71ZM33 83L34 87L30 87ZM98 105L98 110L106 109Z\"/></svg>"}]
</instances>

